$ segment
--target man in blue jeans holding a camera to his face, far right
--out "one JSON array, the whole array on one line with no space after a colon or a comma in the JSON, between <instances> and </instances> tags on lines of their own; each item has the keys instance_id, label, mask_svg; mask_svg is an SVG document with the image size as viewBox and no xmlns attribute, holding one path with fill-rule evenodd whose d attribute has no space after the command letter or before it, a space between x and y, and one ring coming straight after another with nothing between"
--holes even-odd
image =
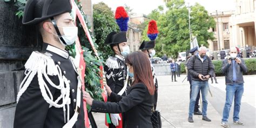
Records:
<instances>
[{"instance_id":1,"label":"man in blue jeans holding a camera to his face, far right","mask_svg":"<svg viewBox=\"0 0 256 128\"><path fill-rule=\"evenodd\" d=\"M223 61L221 71L225 74L226 80L226 102L223 110L223 118L221 119L220 125L224 127L230 126L227 124L227 120L233 98L233 123L244 125L244 123L239 121L239 111L242 93L244 92L244 78L242 77L242 72L246 73L247 68L244 60L237 57L237 49L235 49L235 47L230 49L230 57Z\"/></svg>"}]
</instances>

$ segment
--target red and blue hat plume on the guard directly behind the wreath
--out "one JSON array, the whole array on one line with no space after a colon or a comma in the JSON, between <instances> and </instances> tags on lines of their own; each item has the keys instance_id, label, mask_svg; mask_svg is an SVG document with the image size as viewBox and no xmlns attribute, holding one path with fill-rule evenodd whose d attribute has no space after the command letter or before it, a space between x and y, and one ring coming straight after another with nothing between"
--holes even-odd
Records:
<instances>
[{"instance_id":1,"label":"red and blue hat plume on the guard directly behind the wreath","mask_svg":"<svg viewBox=\"0 0 256 128\"><path fill-rule=\"evenodd\" d=\"M127 15L123 6L117 7L116 15L114 16L114 18L116 18L116 21L117 21L117 24L118 24L120 30L127 31L129 16Z\"/></svg>"}]
</instances>

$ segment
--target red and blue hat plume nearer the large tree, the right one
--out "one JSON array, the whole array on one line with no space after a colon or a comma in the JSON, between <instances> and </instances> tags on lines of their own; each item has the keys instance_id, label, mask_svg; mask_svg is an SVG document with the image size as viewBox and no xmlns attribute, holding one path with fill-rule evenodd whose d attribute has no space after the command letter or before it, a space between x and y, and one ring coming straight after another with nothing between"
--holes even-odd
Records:
<instances>
[{"instance_id":1,"label":"red and blue hat plume nearer the large tree, the right one","mask_svg":"<svg viewBox=\"0 0 256 128\"><path fill-rule=\"evenodd\" d=\"M154 40L157 38L158 35L158 30L157 30L157 22L154 20L151 20L149 22L149 28L147 29L147 37L150 38L150 40Z\"/></svg>"}]
</instances>

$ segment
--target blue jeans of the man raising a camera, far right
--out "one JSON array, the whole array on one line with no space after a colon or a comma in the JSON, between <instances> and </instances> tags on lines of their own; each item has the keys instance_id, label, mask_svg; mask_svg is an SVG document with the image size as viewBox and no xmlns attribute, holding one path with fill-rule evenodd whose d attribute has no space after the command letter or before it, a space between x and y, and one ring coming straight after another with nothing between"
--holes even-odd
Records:
<instances>
[{"instance_id":1,"label":"blue jeans of the man raising a camera, far right","mask_svg":"<svg viewBox=\"0 0 256 128\"><path fill-rule=\"evenodd\" d=\"M233 98L234 98L233 121L235 122L239 120L242 93L244 93L244 84L234 83L233 85L226 85L226 102L223 110L223 118L221 119L222 122L227 123Z\"/></svg>"}]
</instances>

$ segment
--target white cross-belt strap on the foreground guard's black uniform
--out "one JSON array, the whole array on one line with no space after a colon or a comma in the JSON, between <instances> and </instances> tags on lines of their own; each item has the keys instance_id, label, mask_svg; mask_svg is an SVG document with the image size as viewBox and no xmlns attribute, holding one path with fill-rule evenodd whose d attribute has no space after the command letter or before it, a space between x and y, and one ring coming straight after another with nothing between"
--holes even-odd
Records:
<instances>
[{"instance_id":1,"label":"white cross-belt strap on the foreground guard's black uniform","mask_svg":"<svg viewBox=\"0 0 256 128\"><path fill-rule=\"evenodd\" d=\"M81 79L80 76L77 77L78 83L77 83L77 102L76 102L76 109L75 113L71 117L71 119L66 123L63 128L71 128L75 125L77 122L77 117L80 112L80 103L81 103Z\"/></svg>"}]
</instances>

